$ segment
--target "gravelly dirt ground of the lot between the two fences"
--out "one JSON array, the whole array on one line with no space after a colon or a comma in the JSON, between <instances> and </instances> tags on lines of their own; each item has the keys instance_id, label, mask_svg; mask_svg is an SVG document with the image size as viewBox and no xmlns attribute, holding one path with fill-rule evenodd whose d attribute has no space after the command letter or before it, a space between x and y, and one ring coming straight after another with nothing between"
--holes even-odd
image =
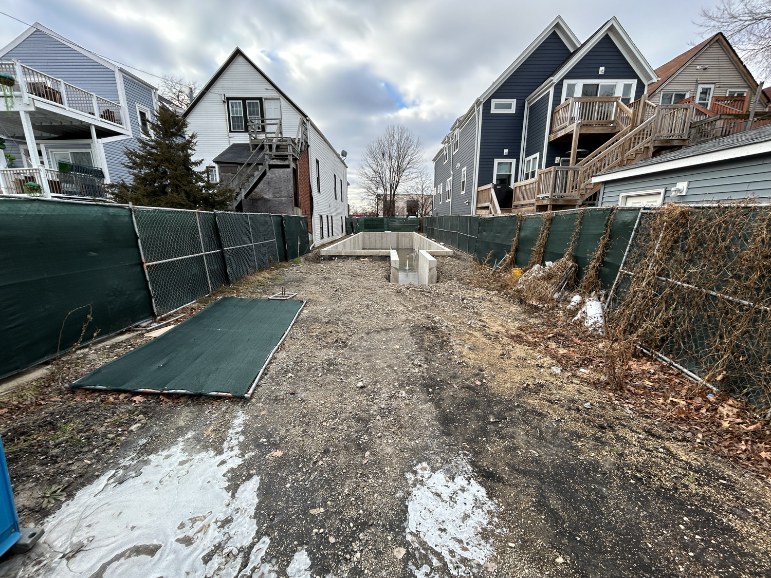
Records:
<instances>
[{"instance_id":1,"label":"gravelly dirt ground of the lot between the two fences","mask_svg":"<svg viewBox=\"0 0 771 578\"><path fill-rule=\"evenodd\" d=\"M389 284L387 267L315 253L222 290L286 287L307 301L251 402L59 385L144 331L6 393L22 526L50 541L6 557L0 576L771 574L763 476L509 338L546 321L474 284L469 257L439 257L433 286ZM169 538L125 549L96 547L96 529L63 536L96 516L102 492L160 507L164 478L137 484L177 453L190 472L219 468L224 505L164 520ZM170 563L172 547L192 570ZM130 566L142 563L152 570Z\"/></svg>"}]
</instances>

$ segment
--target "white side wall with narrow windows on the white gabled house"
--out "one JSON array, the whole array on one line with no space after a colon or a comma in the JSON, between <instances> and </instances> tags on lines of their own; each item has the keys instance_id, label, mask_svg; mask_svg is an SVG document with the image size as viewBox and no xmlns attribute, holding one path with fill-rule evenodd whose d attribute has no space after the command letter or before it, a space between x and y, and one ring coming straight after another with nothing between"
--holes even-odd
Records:
<instances>
[{"instance_id":1,"label":"white side wall with narrow windows on the white gabled house","mask_svg":"<svg viewBox=\"0 0 771 578\"><path fill-rule=\"evenodd\" d=\"M329 146L315 126L308 127L308 145L310 157L311 173L311 191L313 193L313 240L315 243L322 240L319 231L319 217L323 217L324 240L330 238L342 237L345 234L345 217L348 215L348 173L345 169L345 163ZM316 160L318 160L318 180L316 178ZM337 179L337 199L335 200L335 186L333 179ZM342 180L343 190L340 190L340 181ZM319 191L319 184L321 190ZM328 237L327 219L332 217L335 223L335 233ZM342 230L341 230L342 217Z\"/></svg>"}]
</instances>

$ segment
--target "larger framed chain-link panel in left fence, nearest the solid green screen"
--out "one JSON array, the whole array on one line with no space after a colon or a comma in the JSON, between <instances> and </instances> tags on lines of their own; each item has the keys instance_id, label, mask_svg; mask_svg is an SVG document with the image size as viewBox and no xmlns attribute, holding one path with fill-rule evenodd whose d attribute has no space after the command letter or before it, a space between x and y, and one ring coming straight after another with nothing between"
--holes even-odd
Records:
<instances>
[{"instance_id":1,"label":"larger framed chain-link panel in left fence, nearest the solid green screen","mask_svg":"<svg viewBox=\"0 0 771 578\"><path fill-rule=\"evenodd\" d=\"M164 315L227 283L214 213L134 207L155 314Z\"/></svg>"}]
</instances>

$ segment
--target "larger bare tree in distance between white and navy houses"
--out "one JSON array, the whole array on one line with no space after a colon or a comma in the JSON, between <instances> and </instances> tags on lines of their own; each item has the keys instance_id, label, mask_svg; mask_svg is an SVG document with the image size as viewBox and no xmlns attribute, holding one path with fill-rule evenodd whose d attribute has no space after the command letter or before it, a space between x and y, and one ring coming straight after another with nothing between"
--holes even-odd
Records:
<instances>
[{"instance_id":1,"label":"larger bare tree in distance between white and navy houses","mask_svg":"<svg viewBox=\"0 0 771 578\"><path fill-rule=\"evenodd\" d=\"M383 217L393 217L396 194L409 184L423 164L423 144L410 129L392 125L367 145L359 168L365 197L382 207ZM380 199L380 200L379 200Z\"/></svg>"}]
</instances>

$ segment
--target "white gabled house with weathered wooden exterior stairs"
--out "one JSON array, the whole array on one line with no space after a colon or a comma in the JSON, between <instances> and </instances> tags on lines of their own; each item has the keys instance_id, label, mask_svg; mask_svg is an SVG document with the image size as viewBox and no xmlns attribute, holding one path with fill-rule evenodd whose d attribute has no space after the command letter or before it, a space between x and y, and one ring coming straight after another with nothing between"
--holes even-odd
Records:
<instances>
[{"instance_id":1,"label":"white gabled house with weathered wooden exterior stairs","mask_svg":"<svg viewBox=\"0 0 771 578\"><path fill-rule=\"evenodd\" d=\"M236 48L184 111L195 158L238 191L234 209L301 214L315 243L342 237L345 161L318 126Z\"/></svg>"}]
</instances>

